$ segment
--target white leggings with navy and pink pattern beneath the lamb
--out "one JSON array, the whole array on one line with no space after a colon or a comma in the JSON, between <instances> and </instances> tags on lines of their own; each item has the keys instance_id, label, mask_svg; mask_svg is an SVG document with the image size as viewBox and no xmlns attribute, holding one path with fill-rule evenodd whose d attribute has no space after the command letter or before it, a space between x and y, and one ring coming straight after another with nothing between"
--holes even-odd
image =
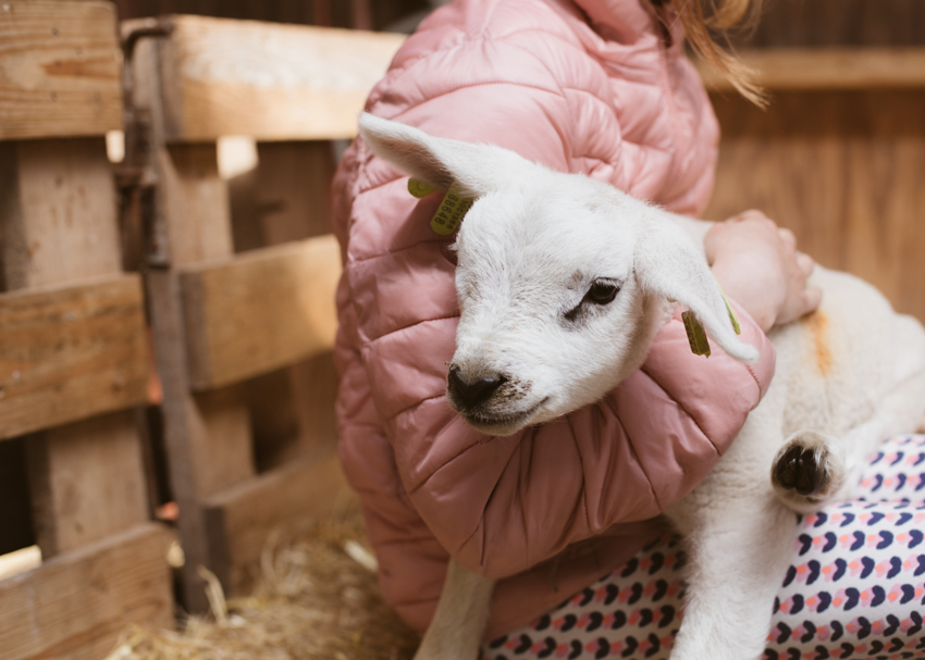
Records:
<instances>
[{"instance_id":1,"label":"white leggings with navy and pink pattern beneath the lamb","mask_svg":"<svg viewBox=\"0 0 925 660\"><path fill-rule=\"evenodd\" d=\"M800 522L774 601L766 660L925 659L925 435L887 441L862 497ZM483 660L666 659L681 620L677 537L529 625L493 640Z\"/></svg>"}]
</instances>

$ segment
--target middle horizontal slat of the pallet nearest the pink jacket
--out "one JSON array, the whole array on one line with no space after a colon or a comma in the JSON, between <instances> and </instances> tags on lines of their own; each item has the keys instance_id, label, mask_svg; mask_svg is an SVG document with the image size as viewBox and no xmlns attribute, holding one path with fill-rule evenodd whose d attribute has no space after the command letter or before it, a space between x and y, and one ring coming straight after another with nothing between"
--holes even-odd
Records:
<instances>
[{"instance_id":1,"label":"middle horizontal slat of the pallet nearest the pink jacket","mask_svg":"<svg viewBox=\"0 0 925 660\"><path fill-rule=\"evenodd\" d=\"M182 275L190 382L209 389L333 346L333 236L256 250Z\"/></svg>"}]
</instances>

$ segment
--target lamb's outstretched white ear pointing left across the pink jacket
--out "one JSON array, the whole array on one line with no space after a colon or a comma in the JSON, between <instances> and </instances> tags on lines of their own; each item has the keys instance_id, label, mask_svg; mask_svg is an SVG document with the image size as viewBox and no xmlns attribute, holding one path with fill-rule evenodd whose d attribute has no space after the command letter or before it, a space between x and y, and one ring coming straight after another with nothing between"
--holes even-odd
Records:
<instances>
[{"instance_id":1,"label":"lamb's outstretched white ear pointing left across the pink jacket","mask_svg":"<svg viewBox=\"0 0 925 660\"><path fill-rule=\"evenodd\" d=\"M378 157L435 188L455 186L469 199L498 190L536 166L501 147L433 137L366 112L360 115L359 127L360 136Z\"/></svg>"}]
</instances>

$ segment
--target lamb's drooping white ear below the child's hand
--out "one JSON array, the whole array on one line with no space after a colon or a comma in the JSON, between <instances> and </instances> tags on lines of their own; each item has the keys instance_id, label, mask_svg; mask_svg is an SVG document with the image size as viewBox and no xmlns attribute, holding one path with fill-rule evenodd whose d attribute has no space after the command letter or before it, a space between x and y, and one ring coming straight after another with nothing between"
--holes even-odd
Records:
<instances>
[{"instance_id":1,"label":"lamb's drooping white ear below the child's hand","mask_svg":"<svg viewBox=\"0 0 925 660\"><path fill-rule=\"evenodd\" d=\"M711 339L741 362L758 359L736 335L719 285L688 235L668 219L646 220L636 242L634 264L643 289L687 306Z\"/></svg>"}]
</instances>

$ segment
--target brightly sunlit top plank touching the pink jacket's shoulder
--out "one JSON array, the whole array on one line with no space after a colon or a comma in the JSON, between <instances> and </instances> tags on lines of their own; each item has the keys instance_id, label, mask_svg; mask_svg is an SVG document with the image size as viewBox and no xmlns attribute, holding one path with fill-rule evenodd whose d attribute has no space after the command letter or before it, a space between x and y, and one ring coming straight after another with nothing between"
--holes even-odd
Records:
<instances>
[{"instance_id":1,"label":"brightly sunlit top plank touching the pink jacket's shoulder","mask_svg":"<svg viewBox=\"0 0 925 660\"><path fill-rule=\"evenodd\" d=\"M160 45L169 141L356 135L403 35L174 16Z\"/></svg>"}]
</instances>

